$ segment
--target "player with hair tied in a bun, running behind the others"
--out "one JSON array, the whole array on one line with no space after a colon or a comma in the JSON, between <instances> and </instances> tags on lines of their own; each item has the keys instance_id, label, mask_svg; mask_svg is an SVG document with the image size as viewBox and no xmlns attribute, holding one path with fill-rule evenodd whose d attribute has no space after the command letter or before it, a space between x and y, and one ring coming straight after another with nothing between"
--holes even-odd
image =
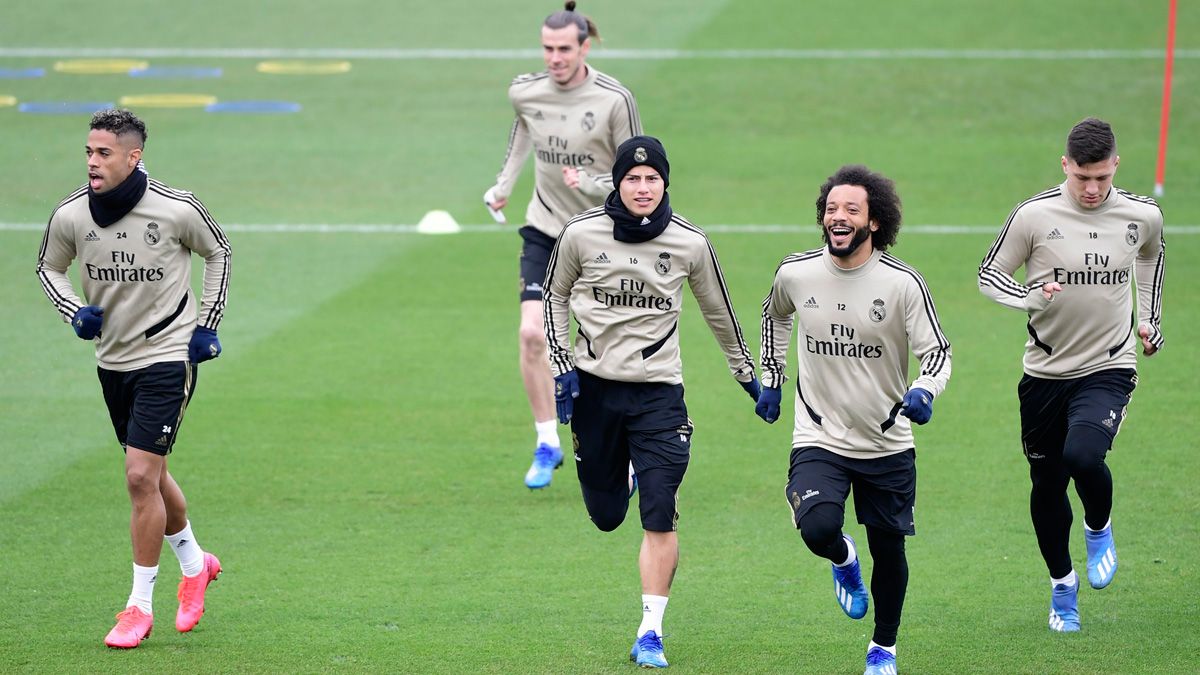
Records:
<instances>
[{"instance_id":1,"label":"player with hair tied in a bun, running behind the others","mask_svg":"<svg viewBox=\"0 0 1200 675\"><path fill-rule=\"evenodd\" d=\"M521 328L518 330L521 378L533 411L538 434L526 485L550 485L563 464L554 424L554 383L546 360L542 334L542 281L554 239L575 214L598 207L613 189L612 166L617 145L642 132L634 95L616 79L587 65L592 38L600 38L592 19L565 10L546 17L541 26L546 70L523 74L509 86L516 110L504 166L496 185L484 195L488 208L499 211L534 151L534 189L520 229ZM503 219L503 215L498 215Z\"/></svg>"}]
</instances>

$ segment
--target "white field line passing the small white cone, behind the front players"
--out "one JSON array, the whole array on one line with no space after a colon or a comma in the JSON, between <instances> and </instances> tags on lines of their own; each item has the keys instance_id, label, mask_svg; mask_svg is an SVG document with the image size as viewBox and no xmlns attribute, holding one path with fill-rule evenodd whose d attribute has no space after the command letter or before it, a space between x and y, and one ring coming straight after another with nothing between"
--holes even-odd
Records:
<instances>
[{"instance_id":1,"label":"white field line passing the small white cone, behind the front players","mask_svg":"<svg viewBox=\"0 0 1200 675\"><path fill-rule=\"evenodd\" d=\"M302 232L329 232L352 234L416 234L415 225L382 223L382 225L354 225L354 223L232 223L221 226L226 232L257 232L292 234ZM499 233L516 232L518 226L514 225L462 225L463 232ZM805 232L816 228L815 223L779 223L779 225L701 225L704 232L719 232L731 234L781 234L791 232ZM0 232L42 232L46 223L38 222L0 222ZM1200 234L1200 225L1168 225L1166 234ZM991 234L1000 233L1000 226L989 225L906 225L901 228L904 233L911 234Z\"/></svg>"}]
</instances>

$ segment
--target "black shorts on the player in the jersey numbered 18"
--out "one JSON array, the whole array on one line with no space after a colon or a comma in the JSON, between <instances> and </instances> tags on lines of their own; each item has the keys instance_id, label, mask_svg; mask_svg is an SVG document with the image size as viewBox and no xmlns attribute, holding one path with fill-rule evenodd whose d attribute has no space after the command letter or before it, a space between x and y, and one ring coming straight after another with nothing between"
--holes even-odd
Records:
<instances>
[{"instance_id":1,"label":"black shorts on the player in the jersey numbered 18","mask_svg":"<svg viewBox=\"0 0 1200 675\"><path fill-rule=\"evenodd\" d=\"M1073 380L1021 377L1016 395L1021 401L1025 458L1061 461L1067 430L1076 424L1098 429L1111 446L1136 387L1138 371L1132 368L1102 370Z\"/></svg>"}]
</instances>

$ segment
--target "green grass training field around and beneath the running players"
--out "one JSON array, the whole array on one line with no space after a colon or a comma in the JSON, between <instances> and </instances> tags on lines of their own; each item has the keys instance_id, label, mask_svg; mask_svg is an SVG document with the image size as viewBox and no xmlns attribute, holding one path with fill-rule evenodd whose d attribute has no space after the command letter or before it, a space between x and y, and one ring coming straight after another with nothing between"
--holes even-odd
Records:
<instances>
[{"instance_id":1,"label":"green grass training field around and beneath the running players","mask_svg":"<svg viewBox=\"0 0 1200 675\"><path fill-rule=\"evenodd\" d=\"M202 368L170 459L196 534L226 573L198 628L175 633L178 566L164 551L158 627L128 652L101 641L130 584L121 454L91 348L34 276L37 223L84 179L86 117L0 108L0 671L632 669L636 519L598 532L569 466L547 490L521 483L533 432L516 368L516 234L245 227L410 225L431 209L486 221L479 195L511 121L504 89L540 68L538 25L556 2L247 5L46 0L6 7L0 22L0 68L48 71L0 79L0 96L196 92L304 106L280 117L137 109L151 175L194 191L228 226L234 274L226 352ZM924 274L954 344L949 388L917 438L901 669L1195 671L1200 13L1181 7L1160 199L1180 228L1168 233L1168 346L1142 362L1109 458L1121 572L1103 592L1081 591L1084 632L1057 635L1018 442L1024 319L978 293L976 267L1012 207L1061 180L1063 137L1082 117L1114 124L1117 185L1150 193L1163 62L1141 54L1163 48L1166 1L866 0L852 14L815 5L581 10L605 37L590 62L637 95L647 132L666 144L672 205L702 227L728 226L712 239L756 357L775 265L816 245L817 185L846 162L896 180L911 229L895 252ZM53 72L84 48L208 49L150 60L224 76ZM250 48L361 52L350 72L319 77L266 76L260 59L220 52ZM388 52L397 49L460 52ZM469 52L486 49L528 53ZM630 58L646 49L684 53ZM768 53L782 49L812 52ZM985 49L997 52L967 52ZM527 171L512 219L528 180ZM768 223L788 227L736 227ZM974 229L914 227L928 225ZM870 616L842 616L828 565L781 498L790 413L774 426L754 416L691 300L682 331L697 434L666 616L671 669L860 671ZM1082 571L1078 532L1073 554Z\"/></svg>"}]
</instances>

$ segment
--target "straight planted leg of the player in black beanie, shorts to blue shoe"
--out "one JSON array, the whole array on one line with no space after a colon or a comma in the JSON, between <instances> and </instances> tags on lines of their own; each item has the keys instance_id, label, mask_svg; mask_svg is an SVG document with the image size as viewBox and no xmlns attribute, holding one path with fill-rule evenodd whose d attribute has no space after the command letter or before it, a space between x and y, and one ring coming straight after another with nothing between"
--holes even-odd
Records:
<instances>
[{"instance_id":1,"label":"straight planted leg of the player in black beanie, shorts to blue shoe","mask_svg":"<svg viewBox=\"0 0 1200 675\"><path fill-rule=\"evenodd\" d=\"M642 579L642 621L630 659L643 668L666 668L662 620L679 566L679 486L691 458L695 431L688 419L683 387L626 384L629 454L638 482L642 546L637 568Z\"/></svg>"}]
</instances>

